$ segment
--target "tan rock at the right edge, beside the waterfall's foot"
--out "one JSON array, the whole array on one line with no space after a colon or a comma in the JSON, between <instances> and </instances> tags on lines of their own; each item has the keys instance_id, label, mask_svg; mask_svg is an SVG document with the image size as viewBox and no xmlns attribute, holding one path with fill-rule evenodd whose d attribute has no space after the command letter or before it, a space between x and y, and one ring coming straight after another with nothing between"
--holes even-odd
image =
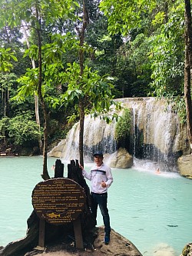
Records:
<instances>
[{"instance_id":1,"label":"tan rock at the right edge, beside the waterfall's foot","mask_svg":"<svg viewBox=\"0 0 192 256\"><path fill-rule=\"evenodd\" d=\"M180 175L186 178L192 178L192 155L182 155L177 160Z\"/></svg>"}]
</instances>

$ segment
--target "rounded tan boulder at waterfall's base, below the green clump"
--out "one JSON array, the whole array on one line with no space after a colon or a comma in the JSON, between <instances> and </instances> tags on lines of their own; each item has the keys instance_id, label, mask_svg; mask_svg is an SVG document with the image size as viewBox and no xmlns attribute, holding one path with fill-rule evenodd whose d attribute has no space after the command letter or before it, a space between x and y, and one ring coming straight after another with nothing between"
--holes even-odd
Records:
<instances>
[{"instance_id":1,"label":"rounded tan boulder at waterfall's base, below the green clump","mask_svg":"<svg viewBox=\"0 0 192 256\"><path fill-rule=\"evenodd\" d=\"M111 168L131 168L133 165L133 157L129 155L125 148L119 148L113 154L113 158L111 158L110 166Z\"/></svg>"}]
</instances>

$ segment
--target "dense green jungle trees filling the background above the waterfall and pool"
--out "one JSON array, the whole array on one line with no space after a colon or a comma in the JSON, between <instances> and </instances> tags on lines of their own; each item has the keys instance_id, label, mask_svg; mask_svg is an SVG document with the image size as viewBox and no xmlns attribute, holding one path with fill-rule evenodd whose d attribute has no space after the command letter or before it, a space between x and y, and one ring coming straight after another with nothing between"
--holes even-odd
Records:
<instances>
[{"instance_id":1,"label":"dense green jungle trees filling the background above the waterfall and pool","mask_svg":"<svg viewBox=\"0 0 192 256\"><path fill-rule=\"evenodd\" d=\"M189 119L190 19L188 0L1 0L2 149L46 155L85 114L109 121L113 98L165 97Z\"/></svg>"}]
</instances>

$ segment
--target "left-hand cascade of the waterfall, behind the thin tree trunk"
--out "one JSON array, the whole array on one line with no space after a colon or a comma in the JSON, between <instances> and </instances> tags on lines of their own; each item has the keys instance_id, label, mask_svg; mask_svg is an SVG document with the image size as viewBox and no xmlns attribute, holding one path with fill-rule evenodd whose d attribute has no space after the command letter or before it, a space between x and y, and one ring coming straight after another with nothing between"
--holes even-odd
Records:
<instances>
[{"instance_id":1,"label":"left-hand cascade of the waterfall, behind the thin tree trunk","mask_svg":"<svg viewBox=\"0 0 192 256\"><path fill-rule=\"evenodd\" d=\"M67 138L53 148L48 155L65 160L78 159L78 135L79 122L71 128ZM114 140L114 123L107 125L104 120L87 115L84 118L84 160L91 161L93 152L101 149L104 154L112 154L117 150Z\"/></svg>"}]
</instances>

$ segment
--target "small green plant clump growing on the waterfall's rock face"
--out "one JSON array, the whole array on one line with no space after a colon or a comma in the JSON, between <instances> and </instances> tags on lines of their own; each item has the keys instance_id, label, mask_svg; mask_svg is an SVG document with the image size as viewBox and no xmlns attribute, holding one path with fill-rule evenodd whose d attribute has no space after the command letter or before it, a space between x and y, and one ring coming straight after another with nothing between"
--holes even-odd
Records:
<instances>
[{"instance_id":1,"label":"small green plant clump growing on the waterfall's rock face","mask_svg":"<svg viewBox=\"0 0 192 256\"><path fill-rule=\"evenodd\" d=\"M127 138L131 128L131 113L129 108L124 108L122 116L118 119L117 124L115 125L115 138L117 141Z\"/></svg>"}]
</instances>

